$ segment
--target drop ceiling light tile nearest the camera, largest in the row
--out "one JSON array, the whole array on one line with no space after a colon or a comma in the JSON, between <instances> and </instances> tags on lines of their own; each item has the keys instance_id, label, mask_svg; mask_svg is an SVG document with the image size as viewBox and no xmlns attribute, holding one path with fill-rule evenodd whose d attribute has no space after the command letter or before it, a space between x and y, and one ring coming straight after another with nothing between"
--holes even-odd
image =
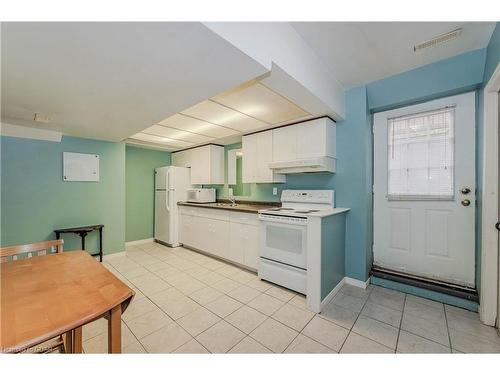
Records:
<instances>
[{"instance_id":1,"label":"drop ceiling light tile nearest the camera, largest in the row","mask_svg":"<svg viewBox=\"0 0 500 375\"><path fill-rule=\"evenodd\" d=\"M237 87L214 96L212 100L270 124L294 120L309 114L259 83Z\"/></svg>"}]
</instances>

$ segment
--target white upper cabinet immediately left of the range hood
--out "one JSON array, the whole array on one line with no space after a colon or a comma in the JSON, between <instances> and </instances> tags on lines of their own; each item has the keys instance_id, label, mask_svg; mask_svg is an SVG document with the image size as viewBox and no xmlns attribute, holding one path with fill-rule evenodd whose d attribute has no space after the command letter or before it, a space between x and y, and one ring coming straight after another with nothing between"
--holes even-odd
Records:
<instances>
[{"instance_id":1,"label":"white upper cabinet immediately left of the range hood","mask_svg":"<svg viewBox=\"0 0 500 375\"><path fill-rule=\"evenodd\" d=\"M284 175L275 173L268 164L273 161L273 131L242 137L244 183L285 182Z\"/></svg>"}]
</instances>

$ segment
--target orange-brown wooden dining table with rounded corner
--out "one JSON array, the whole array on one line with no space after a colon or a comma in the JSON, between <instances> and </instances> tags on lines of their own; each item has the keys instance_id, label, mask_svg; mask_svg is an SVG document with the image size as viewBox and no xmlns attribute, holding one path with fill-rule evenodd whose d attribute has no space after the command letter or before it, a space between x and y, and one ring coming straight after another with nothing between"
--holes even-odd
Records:
<instances>
[{"instance_id":1,"label":"orange-brown wooden dining table with rounded corner","mask_svg":"<svg viewBox=\"0 0 500 375\"><path fill-rule=\"evenodd\" d=\"M108 352L121 352L121 315L134 291L85 251L68 251L0 264L0 352L21 352L108 319Z\"/></svg>"}]
</instances>

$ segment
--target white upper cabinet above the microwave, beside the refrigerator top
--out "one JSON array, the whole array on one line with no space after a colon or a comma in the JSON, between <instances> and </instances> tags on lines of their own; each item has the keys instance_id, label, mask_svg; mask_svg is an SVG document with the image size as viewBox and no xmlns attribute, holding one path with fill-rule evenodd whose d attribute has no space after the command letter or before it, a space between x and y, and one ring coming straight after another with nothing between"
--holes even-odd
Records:
<instances>
[{"instance_id":1,"label":"white upper cabinet above the microwave, beside the refrigerator top","mask_svg":"<svg viewBox=\"0 0 500 375\"><path fill-rule=\"evenodd\" d=\"M172 165L191 168L191 184L224 184L224 147L206 145L172 153Z\"/></svg>"}]
</instances>

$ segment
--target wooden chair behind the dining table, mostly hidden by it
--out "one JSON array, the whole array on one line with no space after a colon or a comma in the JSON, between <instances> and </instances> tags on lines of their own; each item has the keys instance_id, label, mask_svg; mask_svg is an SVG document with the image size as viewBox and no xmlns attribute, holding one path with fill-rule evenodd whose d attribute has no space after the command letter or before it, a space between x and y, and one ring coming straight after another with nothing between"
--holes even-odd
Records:
<instances>
[{"instance_id":1,"label":"wooden chair behind the dining table, mostly hidden by it","mask_svg":"<svg viewBox=\"0 0 500 375\"><path fill-rule=\"evenodd\" d=\"M16 261L22 254L31 258L33 255L42 256L63 252L64 240L37 242L28 245L16 245L0 248L0 262ZM36 318L35 318L36 319ZM26 353L81 353L82 328L64 334L64 337L54 337L35 347L25 350Z\"/></svg>"}]
</instances>

